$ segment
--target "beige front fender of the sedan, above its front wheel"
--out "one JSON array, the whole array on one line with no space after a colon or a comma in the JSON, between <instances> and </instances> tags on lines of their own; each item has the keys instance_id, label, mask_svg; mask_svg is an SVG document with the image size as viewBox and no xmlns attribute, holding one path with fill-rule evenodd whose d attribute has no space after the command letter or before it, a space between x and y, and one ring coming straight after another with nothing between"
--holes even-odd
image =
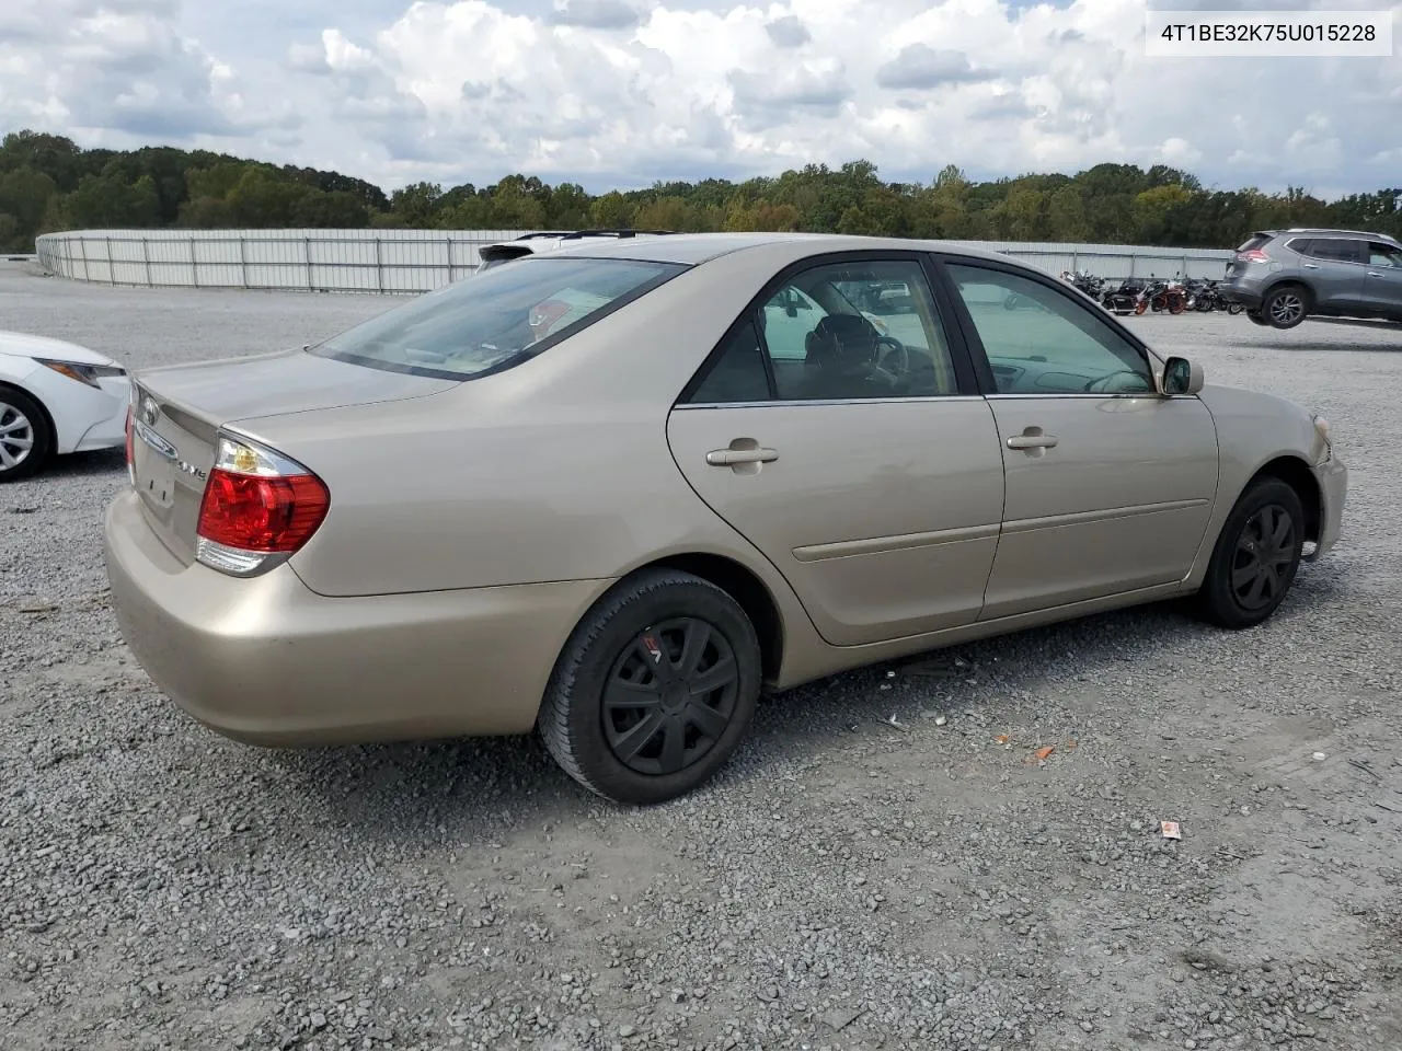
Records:
<instances>
[{"instance_id":1,"label":"beige front fender of the sedan, above its front wheel","mask_svg":"<svg viewBox=\"0 0 1402 1051\"><path fill-rule=\"evenodd\" d=\"M1199 395L1217 425L1221 455L1217 503L1185 586L1197 587L1213 547L1246 485L1273 460L1294 457L1314 467L1323 453L1309 412L1284 398L1237 387L1204 387Z\"/></svg>"}]
</instances>

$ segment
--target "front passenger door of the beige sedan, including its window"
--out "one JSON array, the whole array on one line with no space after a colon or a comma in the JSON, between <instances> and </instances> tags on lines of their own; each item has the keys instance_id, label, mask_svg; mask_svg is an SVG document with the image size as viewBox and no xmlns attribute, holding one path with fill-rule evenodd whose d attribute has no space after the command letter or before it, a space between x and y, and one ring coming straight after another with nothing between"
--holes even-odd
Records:
<instances>
[{"instance_id":1,"label":"front passenger door of the beige sedan, including its window","mask_svg":"<svg viewBox=\"0 0 1402 1051\"><path fill-rule=\"evenodd\" d=\"M1145 355L1050 279L945 270L987 363L1007 478L983 619L1182 580L1217 492L1207 408L1157 395ZM1023 307L1005 310L1009 294Z\"/></svg>"}]
</instances>

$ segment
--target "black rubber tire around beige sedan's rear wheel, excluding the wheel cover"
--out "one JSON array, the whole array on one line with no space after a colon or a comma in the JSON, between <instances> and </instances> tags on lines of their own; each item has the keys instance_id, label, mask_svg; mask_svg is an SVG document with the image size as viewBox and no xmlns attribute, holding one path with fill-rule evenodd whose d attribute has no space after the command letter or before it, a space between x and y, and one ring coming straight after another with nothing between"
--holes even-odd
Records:
<instances>
[{"instance_id":1,"label":"black rubber tire around beige sedan's rear wheel, excluding the wheel cover","mask_svg":"<svg viewBox=\"0 0 1402 1051\"><path fill-rule=\"evenodd\" d=\"M561 657L566 675L552 677L543 708L555 705L558 710L564 706L569 751L590 789L620 803L660 803L709 781L739 746L760 694L758 638L740 605L698 577L667 575L666 579L639 580L620 589L615 598L621 601L600 601L580 622ZM735 712L721 739L694 765L660 776L638 774L613 754L604 737L603 691L622 649L648 626L676 617L705 621L730 645L739 670Z\"/></svg>"}]
</instances>

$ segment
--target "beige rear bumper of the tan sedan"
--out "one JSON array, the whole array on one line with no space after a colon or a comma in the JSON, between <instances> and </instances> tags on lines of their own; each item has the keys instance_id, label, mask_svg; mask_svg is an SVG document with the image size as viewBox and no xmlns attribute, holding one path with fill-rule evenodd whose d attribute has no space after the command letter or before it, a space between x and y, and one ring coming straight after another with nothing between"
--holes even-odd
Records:
<instances>
[{"instance_id":1,"label":"beige rear bumper of the tan sedan","mask_svg":"<svg viewBox=\"0 0 1402 1051\"><path fill-rule=\"evenodd\" d=\"M608 582L327 598L283 565L182 566L137 496L104 520L128 645L185 712L265 746L526 733L561 646Z\"/></svg>"}]
</instances>

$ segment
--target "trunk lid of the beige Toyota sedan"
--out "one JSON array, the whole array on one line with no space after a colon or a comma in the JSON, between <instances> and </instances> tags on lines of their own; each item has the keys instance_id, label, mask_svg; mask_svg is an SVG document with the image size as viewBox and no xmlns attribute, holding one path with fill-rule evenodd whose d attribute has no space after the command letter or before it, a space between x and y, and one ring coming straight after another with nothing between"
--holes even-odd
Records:
<instances>
[{"instance_id":1,"label":"trunk lid of the beige Toyota sedan","mask_svg":"<svg viewBox=\"0 0 1402 1051\"><path fill-rule=\"evenodd\" d=\"M421 398L456 385L300 350L142 373L132 384L132 485L151 531L189 565L220 427Z\"/></svg>"}]
</instances>

